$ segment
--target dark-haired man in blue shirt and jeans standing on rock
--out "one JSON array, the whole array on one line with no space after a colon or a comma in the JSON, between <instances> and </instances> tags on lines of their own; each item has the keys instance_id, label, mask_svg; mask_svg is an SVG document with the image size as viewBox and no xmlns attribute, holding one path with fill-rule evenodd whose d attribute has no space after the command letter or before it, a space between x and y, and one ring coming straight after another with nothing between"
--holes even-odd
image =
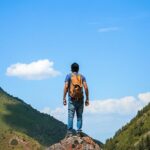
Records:
<instances>
[{"instance_id":1,"label":"dark-haired man in blue shirt and jeans standing on rock","mask_svg":"<svg viewBox=\"0 0 150 150\"><path fill-rule=\"evenodd\" d=\"M77 63L71 65L71 72L66 76L63 94L63 104L67 105L66 94L68 93L67 137L72 136L75 112L77 115L77 135L80 136L82 132L82 114L84 108L83 87L86 95L85 106L89 105L88 86L85 77L78 73L79 65Z\"/></svg>"}]
</instances>

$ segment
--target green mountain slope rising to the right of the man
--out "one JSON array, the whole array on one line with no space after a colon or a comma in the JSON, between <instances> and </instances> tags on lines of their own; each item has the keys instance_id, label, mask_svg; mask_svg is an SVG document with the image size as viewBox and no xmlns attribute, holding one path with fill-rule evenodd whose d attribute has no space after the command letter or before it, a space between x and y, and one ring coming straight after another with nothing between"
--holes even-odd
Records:
<instances>
[{"instance_id":1,"label":"green mountain slope rising to the right of the man","mask_svg":"<svg viewBox=\"0 0 150 150\"><path fill-rule=\"evenodd\" d=\"M106 150L150 150L150 103L108 139Z\"/></svg>"}]
</instances>

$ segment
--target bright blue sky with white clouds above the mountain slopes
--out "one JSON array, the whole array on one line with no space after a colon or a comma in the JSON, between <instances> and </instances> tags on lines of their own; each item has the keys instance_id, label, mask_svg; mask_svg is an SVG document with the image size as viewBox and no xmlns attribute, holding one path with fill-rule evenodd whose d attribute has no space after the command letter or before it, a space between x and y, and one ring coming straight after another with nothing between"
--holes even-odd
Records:
<instances>
[{"instance_id":1,"label":"bright blue sky with white clouds above the mountain slopes","mask_svg":"<svg viewBox=\"0 0 150 150\"><path fill-rule=\"evenodd\" d=\"M148 0L1 0L0 86L67 123L64 79L79 63L90 91L83 131L105 142L150 101L149 6Z\"/></svg>"}]
</instances>

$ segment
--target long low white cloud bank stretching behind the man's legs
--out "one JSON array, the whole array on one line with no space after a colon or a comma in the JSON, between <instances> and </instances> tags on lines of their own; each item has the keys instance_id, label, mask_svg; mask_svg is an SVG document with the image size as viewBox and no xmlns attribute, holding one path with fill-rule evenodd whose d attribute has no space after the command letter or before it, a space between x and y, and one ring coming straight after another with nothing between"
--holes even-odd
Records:
<instances>
[{"instance_id":1,"label":"long low white cloud bank stretching behind the man's legs","mask_svg":"<svg viewBox=\"0 0 150 150\"><path fill-rule=\"evenodd\" d=\"M85 114L118 114L118 115L128 115L131 113L136 113L138 110L143 108L146 104L150 102L150 92L140 93L137 97L126 96L119 99L105 99L105 100L92 100L90 105L85 107ZM133 110L134 108L134 110ZM51 113L56 118L65 115L66 107L58 107L54 110L49 111L48 107L44 108L42 112ZM66 115L65 115L66 116ZM61 118L61 117L59 117Z\"/></svg>"}]
</instances>

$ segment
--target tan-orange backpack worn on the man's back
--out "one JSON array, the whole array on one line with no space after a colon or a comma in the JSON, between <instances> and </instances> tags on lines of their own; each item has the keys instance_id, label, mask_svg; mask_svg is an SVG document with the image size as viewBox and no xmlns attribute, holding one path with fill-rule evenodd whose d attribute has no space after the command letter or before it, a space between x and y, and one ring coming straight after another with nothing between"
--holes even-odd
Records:
<instances>
[{"instance_id":1,"label":"tan-orange backpack worn on the man's back","mask_svg":"<svg viewBox=\"0 0 150 150\"><path fill-rule=\"evenodd\" d=\"M80 74L71 74L70 96L73 99L83 98L83 83L82 76Z\"/></svg>"}]
</instances>

